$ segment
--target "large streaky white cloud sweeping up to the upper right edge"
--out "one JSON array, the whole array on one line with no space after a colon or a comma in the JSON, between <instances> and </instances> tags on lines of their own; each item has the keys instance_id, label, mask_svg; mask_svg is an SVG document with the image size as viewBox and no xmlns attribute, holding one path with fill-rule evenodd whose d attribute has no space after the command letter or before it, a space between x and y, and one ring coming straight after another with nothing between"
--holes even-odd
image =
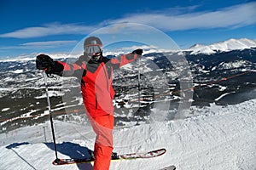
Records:
<instances>
[{"instance_id":1,"label":"large streaky white cloud sweeping up to the upper right edge","mask_svg":"<svg viewBox=\"0 0 256 170\"><path fill-rule=\"evenodd\" d=\"M108 24L141 23L164 31L212 29L249 26L256 23L256 3L244 3L229 8L201 13L175 14L172 9L147 14L130 14Z\"/></svg>"}]
</instances>

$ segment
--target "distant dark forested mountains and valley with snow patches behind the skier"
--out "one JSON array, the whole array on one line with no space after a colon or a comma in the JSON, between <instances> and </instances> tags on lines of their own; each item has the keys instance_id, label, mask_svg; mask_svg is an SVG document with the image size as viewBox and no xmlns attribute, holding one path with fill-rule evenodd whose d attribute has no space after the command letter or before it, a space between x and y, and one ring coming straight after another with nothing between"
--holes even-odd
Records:
<instances>
[{"instance_id":1,"label":"distant dark forested mountains and valley with snow patches behind the skier","mask_svg":"<svg viewBox=\"0 0 256 170\"><path fill-rule=\"evenodd\" d=\"M175 52L147 48L144 51L140 65L134 62L113 72L113 104L119 125L145 122L151 108L162 108L167 101L171 111L167 118L171 120L181 104L234 105L255 99L255 40L230 39ZM36 70L36 55L0 60L0 133L49 118L45 114L44 75ZM49 55L65 62L75 60L74 55L69 54ZM183 62L189 66L188 70ZM189 75L191 81L188 81ZM56 119L73 121L77 114L85 117L80 84L75 77L55 77L48 81L51 106L58 112ZM191 89L193 96L188 97ZM139 109L138 101L142 101Z\"/></svg>"}]
</instances>

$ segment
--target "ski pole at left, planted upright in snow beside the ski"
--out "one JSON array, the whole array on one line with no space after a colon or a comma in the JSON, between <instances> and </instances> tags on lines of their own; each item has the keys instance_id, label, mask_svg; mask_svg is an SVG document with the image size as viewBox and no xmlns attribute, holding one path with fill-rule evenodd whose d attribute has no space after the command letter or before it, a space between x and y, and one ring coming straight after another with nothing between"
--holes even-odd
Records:
<instances>
[{"instance_id":1,"label":"ski pole at left, planted upright in snow beside the ski","mask_svg":"<svg viewBox=\"0 0 256 170\"><path fill-rule=\"evenodd\" d=\"M47 98L47 102L48 102L48 111L49 111L49 120L50 120L50 126L51 126L51 133L52 133L52 138L53 138L54 144L55 144L55 156L56 156L55 160L57 161L59 159L58 159L57 147L56 147L56 141L55 141L55 129L54 129L52 113L51 113L51 109L50 109L49 91L48 91L47 77L46 77L45 72L44 72L44 84L45 84L45 90L46 90L46 98Z\"/></svg>"}]
</instances>

